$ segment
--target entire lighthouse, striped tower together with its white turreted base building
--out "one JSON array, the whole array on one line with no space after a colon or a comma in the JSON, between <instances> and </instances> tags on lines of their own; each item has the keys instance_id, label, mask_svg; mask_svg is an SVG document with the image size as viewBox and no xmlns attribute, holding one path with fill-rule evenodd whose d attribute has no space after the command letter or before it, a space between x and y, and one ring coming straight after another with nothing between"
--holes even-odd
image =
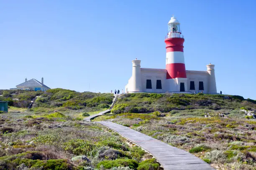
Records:
<instances>
[{"instance_id":1,"label":"entire lighthouse, striped tower together with its white turreted base building","mask_svg":"<svg viewBox=\"0 0 256 170\"><path fill-rule=\"evenodd\" d=\"M132 61L132 76L125 92L170 92L216 94L215 70L212 64L206 71L186 70L183 52L184 36L180 23L172 17L168 23L166 69L141 68L141 60Z\"/></svg>"}]
</instances>

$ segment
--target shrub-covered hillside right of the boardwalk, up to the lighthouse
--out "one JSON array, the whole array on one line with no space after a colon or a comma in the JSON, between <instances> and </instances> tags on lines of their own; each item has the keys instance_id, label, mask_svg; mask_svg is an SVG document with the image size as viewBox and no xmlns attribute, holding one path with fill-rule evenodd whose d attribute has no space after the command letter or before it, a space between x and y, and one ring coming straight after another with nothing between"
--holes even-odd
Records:
<instances>
[{"instance_id":1,"label":"shrub-covered hillside right of the boardwalk, up to the lighthouse","mask_svg":"<svg viewBox=\"0 0 256 170\"><path fill-rule=\"evenodd\" d=\"M133 128L187 150L217 169L254 170L256 121L245 118L240 107L256 110L255 103L231 95L125 94L112 110L115 115L94 121Z\"/></svg>"}]
</instances>

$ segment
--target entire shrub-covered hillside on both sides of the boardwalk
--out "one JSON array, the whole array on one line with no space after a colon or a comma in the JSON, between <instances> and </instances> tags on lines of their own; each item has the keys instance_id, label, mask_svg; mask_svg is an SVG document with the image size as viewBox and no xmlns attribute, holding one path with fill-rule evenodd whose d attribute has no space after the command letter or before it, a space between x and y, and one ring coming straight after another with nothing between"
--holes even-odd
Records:
<instances>
[{"instance_id":1,"label":"entire shrub-covered hillside on both sides of the boardwalk","mask_svg":"<svg viewBox=\"0 0 256 170\"><path fill-rule=\"evenodd\" d=\"M108 109L112 94L51 89L0 90L0 95L0 100L10 101L10 112L0 114L0 169L159 168L151 155L117 133L82 121ZM256 110L255 103L231 95L125 94L111 114L93 121L133 128L187 150L217 169L254 170L256 121L245 118L240 108Z\"/></svg>"}]
</instances>

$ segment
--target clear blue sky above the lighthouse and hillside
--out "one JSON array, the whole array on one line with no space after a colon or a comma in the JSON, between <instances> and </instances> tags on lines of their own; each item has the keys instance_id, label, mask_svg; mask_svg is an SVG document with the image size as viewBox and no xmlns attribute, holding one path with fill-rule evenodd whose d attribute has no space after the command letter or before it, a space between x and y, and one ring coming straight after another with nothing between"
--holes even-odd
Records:
<instances>
[{"instance_id":1,"label":"clear blue sky above the lighthouse and hillside","mask_svg":"<svg viewBox=\"0 0 256 170\"><path fill-rule=\"evenodd\" d=\"M253 0L0 0L0 89L44 77L51 88L121 90L131 60L165 68L175 15L186 69L211 62L218 92L256 99L255 8Z\"/></svg>"}]
</instances>

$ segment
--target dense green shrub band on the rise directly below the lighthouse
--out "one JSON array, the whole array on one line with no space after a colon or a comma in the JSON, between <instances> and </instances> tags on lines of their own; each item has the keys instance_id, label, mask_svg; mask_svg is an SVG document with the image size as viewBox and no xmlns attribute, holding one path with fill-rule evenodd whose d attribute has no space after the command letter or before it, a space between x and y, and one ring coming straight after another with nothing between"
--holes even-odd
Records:
<instances>
[{"instance_id":1,"label":"dense green shrub band on the rise directly below the lighthouse","mask_svg":"<svg viewBox=\"0 0 256 170\"><path fill-rule=\"evenodd\" d=\"M241 96L194 94L155 94L129 93L122 95L114 106L112 113L147 113L170 112L185 109L239 109L253 108L255 100L245 100Z\"/></svg>"}]
</instances>

